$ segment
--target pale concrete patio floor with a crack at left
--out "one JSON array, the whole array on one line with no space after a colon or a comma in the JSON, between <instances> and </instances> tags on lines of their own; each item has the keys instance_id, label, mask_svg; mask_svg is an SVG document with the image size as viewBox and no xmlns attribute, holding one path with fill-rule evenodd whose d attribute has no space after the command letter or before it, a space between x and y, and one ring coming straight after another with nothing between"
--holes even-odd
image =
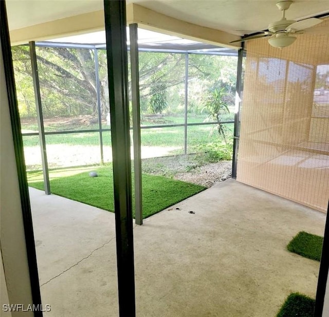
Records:
<instances>
[{"instance_id":1,"label":"pale concrete patio floor with a crack at left","mask_svg":"<svg viewBox=\"0 0 329 317\"><path fill-rule=\"evenodd\" d=\"M118 316L114 214L30 197L45 316ZM234 180L175 207L134 225L137 316L274 317L290 292L315 296L319 263L286 245L323 235L323 213Z\"/></svg>"}]
</instances>

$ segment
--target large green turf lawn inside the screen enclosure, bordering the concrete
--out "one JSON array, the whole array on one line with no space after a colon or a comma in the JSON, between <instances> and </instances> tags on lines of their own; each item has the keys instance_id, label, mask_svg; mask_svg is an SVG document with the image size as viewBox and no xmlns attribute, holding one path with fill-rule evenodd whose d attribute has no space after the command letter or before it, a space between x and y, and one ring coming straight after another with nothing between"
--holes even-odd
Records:
<instances>
[{"instance_id":1,"label":"large green turf lawn inside the screen enclosure, bordering the concrete","mask_svg":"<svg viewBox=\"0 0 329 317\"><path fill-rule=\"evenodd\" d=\"M98 177L89 177L90 171L96 171ZM49 177L52 194L114 211L112 164L102 167L84 166L50 170ZM28 172L27 178L31 187L43 190L42 171ZM143 218L166 209L204 189L206 188L200 185L143 174ZM135 212L133 214L135 216Z\"/></svg>"}]
</instances>

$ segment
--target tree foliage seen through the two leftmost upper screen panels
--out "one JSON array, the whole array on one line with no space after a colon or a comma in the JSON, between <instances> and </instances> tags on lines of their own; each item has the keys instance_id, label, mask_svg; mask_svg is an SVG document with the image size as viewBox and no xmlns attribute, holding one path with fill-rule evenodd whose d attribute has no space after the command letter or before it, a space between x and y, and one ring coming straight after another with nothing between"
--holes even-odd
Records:
<instances>
[{"instance_id":1,"label":"tree foliage seen through the two leftmost upper screen panels","mask_svg":"<svg viewBox=\"0 0 329 317\"><path fill-rule=\"evenodd\" d=\"M36 47L40 93L45 118L96 115L94 52L89 49ZM12 48L17 95L24 97L21 117L32 117L34 99L28 46ZM34 104L34 103L33 103ZM34 105L35 108L35 105Z\"/></svg>"}]
</instances>

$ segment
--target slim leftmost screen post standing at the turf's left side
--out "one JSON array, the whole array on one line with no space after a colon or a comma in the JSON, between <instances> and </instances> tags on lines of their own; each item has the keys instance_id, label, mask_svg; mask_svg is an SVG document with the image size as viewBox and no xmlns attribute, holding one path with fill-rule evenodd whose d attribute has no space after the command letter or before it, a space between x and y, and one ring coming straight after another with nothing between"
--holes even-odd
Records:
<instances>
[{"instance_id":1,"label":"slim leftmost screen post standing at the turf's left side","mask_svg":"<svg viewBox=\"0 0 329 317\"><path fill-rule=\"evenodd\" d=\"M39 139L40 139L40 147L41 147L43 182L44 182L44 189L46 195L50 195L45 127L43 125L40 82L39 82L38 64L36 61L35 43L30 42L29 45L30 45L30 57L31 57L31 65L32 65L32 78L33 78L33 86L34 86L36 115L38 116L38 129L39 129Z\"/></svg>"}]
</instances>

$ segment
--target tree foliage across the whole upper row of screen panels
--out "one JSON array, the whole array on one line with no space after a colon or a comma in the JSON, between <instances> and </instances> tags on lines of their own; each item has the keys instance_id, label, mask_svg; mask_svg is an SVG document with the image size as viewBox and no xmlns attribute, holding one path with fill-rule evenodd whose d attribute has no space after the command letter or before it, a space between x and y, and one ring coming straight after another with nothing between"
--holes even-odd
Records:
<instances>
[{"instance_id":1,"label":"tree foliage across the whole upper row of screen panels","mask_svg":"<svg viewBox=\"0 0 329 317\"><path fill-rule=\"evenodd\" d=\"M37 47L36 53L44 117L96 118L94 50ZM13 47L12 54L21 118L35 118L29 47ZM200 115L203 96L213 86L225 87L228 104L232 105L229 99L234 96L236 61L236 57L189 54L189 113ZM109 111L105 50L98 50L98 62L101 113L105 118ZM184 113L184 53L140 52L139 76L142 115Z\"/></svg>"}]
</instances>

